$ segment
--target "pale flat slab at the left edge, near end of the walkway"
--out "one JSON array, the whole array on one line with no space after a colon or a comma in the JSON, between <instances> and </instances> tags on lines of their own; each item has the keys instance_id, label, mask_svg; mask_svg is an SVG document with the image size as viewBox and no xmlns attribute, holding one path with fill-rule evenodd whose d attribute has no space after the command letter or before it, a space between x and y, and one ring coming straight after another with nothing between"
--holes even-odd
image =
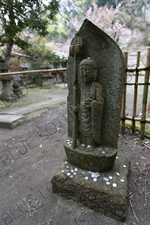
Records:
<instances>
[{"instance_id":1,"label":"pale flat slab at the left edge, near end of the walkway","mask_svg":"<svg viewBox=\"0 0 150 225\"><path fill-rule=\"evenodd\" d=\"M0 114L0 127L13 129L18 126L23 119L23 115Z\"/></svg>"}]
</instances>

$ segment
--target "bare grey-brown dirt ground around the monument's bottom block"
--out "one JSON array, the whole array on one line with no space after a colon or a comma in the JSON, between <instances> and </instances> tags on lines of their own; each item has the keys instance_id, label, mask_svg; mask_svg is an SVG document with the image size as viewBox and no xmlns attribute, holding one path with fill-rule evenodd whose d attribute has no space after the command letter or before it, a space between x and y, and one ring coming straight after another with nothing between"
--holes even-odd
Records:
<instances>
[{"instance_id":1,"label":"bare grey-brown dirt ground around the monument's bottom block","mask_svg":"<svg viewBox=\"0 0 150 225\"><path fill-rule=\"evenodd\" d=\"M119 222L52 193L50 177L65 158L66 133L66 105L0 130L0 224L150 225L149 139L140 143L128 130L119 139L119 151L131 159L127 218Z\"/></svg>"}]
</instances>

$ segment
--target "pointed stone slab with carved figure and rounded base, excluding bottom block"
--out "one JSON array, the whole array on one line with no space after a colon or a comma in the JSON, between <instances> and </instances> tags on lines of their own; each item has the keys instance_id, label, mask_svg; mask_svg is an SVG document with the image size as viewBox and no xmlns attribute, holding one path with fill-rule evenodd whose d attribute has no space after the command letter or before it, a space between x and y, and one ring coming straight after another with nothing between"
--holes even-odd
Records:
<instances>
[{"instance_id":1,"label":"pointed stone slab with carved figure and rounded base, excluding bottom block","mask_svg":"<svg viewBox=\"0 0 150 225\"><path fill-rule=\"evenodd\" d=\"M69 163L110 170L118 152L124 58L116 43L85 20L72 39L67 63Z\"/></svg>"}]
</instances>

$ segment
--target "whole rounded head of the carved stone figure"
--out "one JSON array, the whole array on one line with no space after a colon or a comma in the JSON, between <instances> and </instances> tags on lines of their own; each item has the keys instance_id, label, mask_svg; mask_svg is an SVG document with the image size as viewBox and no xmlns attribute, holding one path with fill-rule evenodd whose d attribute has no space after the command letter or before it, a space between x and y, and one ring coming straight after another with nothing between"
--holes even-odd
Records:
<instances>
[{"instance_id":1,"label":"whole rounded head of the carved stone figure","mask_svg":"<svg viewBox=\"0 0 150 225\"><path fill-rule=\"evenodd\" d=\"M85 83L92 83L97 75L96 62L91 58L83 59L80 63L80 74Z\"/></svg>"}]
</instances>

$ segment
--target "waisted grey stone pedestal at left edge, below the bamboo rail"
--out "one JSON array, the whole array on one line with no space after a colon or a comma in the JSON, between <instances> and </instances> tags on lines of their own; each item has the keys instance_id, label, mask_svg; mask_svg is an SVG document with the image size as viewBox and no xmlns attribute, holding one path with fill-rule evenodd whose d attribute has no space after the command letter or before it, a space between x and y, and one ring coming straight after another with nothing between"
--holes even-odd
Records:
<instances>
[{"instance_id":1,"label":"waisted grey stone pedestal at left edge, below the bamboo rail","mask_svg":"<svg viewBox=\"0 0 150 225\"><path fill-rule=\"evenodd\" d=\"M2 85L3 85L0 99L4 100L4 101L14 101L15 95L13 93L12 84L11 84L13 77L12 76L2 76L2 77L0 77L0 80L2 81Z\"/></svg>"}]
</instances>

